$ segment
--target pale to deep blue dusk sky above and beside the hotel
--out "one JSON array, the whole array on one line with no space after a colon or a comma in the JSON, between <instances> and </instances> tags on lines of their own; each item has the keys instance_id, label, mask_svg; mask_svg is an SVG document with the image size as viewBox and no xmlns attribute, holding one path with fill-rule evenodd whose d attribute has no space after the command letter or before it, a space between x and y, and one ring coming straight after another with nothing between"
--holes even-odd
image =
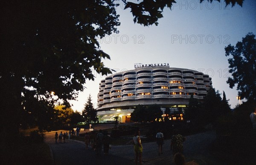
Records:
<instances>
[{"instance_id":1,"label":"pale to deep blue dusk sky above and beside the hotel","mask_svg":"<svg viewBox=\"0 0 256 165\"><path fill-rule=\"evenodd\" d=\"M256 1L244 0L243 6L225 7L225 3L199 3L200 0L177 0L172 10L165 8L159 25L144 27L134 24L130 10L124 10L121 0L117 7L121 25L119 34L99 40L101 50L111 60L103 60L106 67L117 72L133 70L135 63L169 63L170 67L197 70L212 77L212 86L226 93L231 108L236 100L236 87L226 83L231 76L224 48L236 45L242 37L256 34ZM113 72L114 74L114 72ZM106 76L95 74L95 81L87 81L77 101L70 101L73 110L82 111L89 94L97 108L99 83ZM222 97L222 95L221 95Z\"/></svg>"}]
</instances>

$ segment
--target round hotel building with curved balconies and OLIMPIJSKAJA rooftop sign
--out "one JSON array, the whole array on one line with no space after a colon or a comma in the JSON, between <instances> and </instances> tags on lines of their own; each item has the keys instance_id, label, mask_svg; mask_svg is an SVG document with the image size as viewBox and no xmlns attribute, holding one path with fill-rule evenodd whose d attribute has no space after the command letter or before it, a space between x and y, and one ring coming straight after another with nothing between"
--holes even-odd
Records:
<instances>
[{"instance_id":1,"label":"round hotel building with curved balconies and OLIMPIJSKAJA rooftop sign","mask_svg":"<svg viewBox=\"0 0 256 165\"><path fill-rule=\"evenodd\" d=\"M129 122L131 112L139 104L158 104L164 111L180 111L189 98L202 100L212 87L204 73L169 67L168 63L134 65L134 70L116 73L99 84L97 116L100 122Z\"/></svg>"}]
</instances>

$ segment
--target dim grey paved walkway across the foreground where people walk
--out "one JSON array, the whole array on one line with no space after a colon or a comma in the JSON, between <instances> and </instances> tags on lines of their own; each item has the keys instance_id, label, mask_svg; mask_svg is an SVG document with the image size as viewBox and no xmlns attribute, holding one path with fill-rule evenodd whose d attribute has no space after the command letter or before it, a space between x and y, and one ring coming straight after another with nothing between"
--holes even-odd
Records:
<instances>
[{"instance_id":1,"label":"dim grey paved walkway across the foreground where people walk","mask_svg":"<svg viewBox=\"0 0 256 165\"><path fill-rule=\"evenodd\" d=\"M98 126L95 129L104 129ZM105 128L106 129L106 128ZM76 164L76 165L133 165L134 150L133 145L112 146L109 155L96 156L95 152L89 148L85 149L83 142L66 140L66 143L55 144L54 134L46 134L46 141L49 143L54 158L54 164ZM186 137L184 145L184 156L186 162L195 160L200 165L222 165L209 153L209 145L215 140L215 131L204 132ZM143 141L143 139L142 139ZM163 144L163 154L158 156L157 144L143 143L143 165L173 165L172 151L170 150L170 140L165 140Z\"/></svg>"}]
</instances>

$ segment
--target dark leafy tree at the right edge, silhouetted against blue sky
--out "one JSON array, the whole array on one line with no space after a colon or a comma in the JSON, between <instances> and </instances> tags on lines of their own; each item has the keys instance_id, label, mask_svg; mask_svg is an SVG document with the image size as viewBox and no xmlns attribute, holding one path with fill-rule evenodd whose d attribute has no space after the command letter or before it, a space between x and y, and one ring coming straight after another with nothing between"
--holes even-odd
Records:
<instances>
[{"instance_id":1,"label":"dark leafy tree at the right edge, silhouetted against blue sky","mask_svg":"<svg viewBox=\"0 0 256 165\"><path fill-rule=\"evenodd\" d=\"M252 33L248 33L242 42L237 42L236 46L225 47L226 56L230 64L229 77L227 83L230 88L237 84L238 95L241 99L252 99L256 101L256 38Z\"/></svg>"}]
</instances>

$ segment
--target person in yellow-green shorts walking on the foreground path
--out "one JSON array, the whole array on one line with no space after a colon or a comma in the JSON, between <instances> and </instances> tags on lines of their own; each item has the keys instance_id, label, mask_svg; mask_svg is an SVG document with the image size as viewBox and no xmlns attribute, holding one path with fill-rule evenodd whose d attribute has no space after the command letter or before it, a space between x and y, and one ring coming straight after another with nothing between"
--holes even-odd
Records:
<instances>
[{"instance_id":1,"label":"person in yellow-green shorts walking on the foreground path","mask_svg":"<svg viewBox=\"0 0 256 165\"><path fill-rule=\"evenodd\" d=\"M135 163L136 165L138 164L138 159L139 159L139 163L140 165L142 165L142 151L143 151L143 147L141 144L141 139L140 139L140 131L136 131L133 137L133 141L134 141L134 152L135 152Z\"/></svg>"}]
</instances>

